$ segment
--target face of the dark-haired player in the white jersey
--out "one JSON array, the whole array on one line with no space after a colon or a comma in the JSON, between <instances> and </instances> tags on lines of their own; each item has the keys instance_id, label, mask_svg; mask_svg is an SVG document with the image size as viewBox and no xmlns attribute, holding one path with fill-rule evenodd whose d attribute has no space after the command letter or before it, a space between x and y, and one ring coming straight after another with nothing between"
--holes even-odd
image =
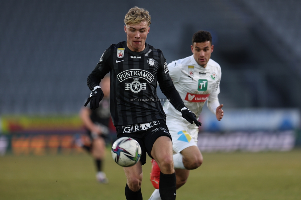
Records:
<instances>
[{"instance_id":1,"label":"face of the dark-haired player in the white jersey","mask_svg":"<svg viewBox=\"0 0 301 200\"><path fill-rule=\"evenodd\" d=\"M195 42L193 45L191 45L191 51L196 62L205 68L211 57L213 45L211 45L210 41Z\"/></svg>"}]
</instances>

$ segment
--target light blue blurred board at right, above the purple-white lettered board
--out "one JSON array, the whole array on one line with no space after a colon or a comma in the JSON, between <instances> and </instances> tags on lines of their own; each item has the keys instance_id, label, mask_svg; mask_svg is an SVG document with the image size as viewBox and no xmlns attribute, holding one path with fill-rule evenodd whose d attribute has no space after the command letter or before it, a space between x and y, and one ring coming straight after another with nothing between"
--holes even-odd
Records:
<instances>
[{"instance_id":1,"label":"light blue blurred board at right, above the purple-white lettered board","mask_svg":"<svg viewBox=\"0 0 301 200\"><path fill-rule=\"evenodd\" d=\"M200 115L202 131L295 130L300 128L299 109L223 109L221 121L208 110Z\"/></svg>"}]
</instances>

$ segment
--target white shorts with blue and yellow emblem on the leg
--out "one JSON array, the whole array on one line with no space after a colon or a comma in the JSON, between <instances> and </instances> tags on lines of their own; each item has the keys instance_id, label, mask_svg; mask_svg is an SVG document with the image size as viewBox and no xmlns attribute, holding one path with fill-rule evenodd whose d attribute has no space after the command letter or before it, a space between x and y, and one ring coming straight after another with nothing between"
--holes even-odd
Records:
<instances>
[{"instance_id":1,"label":"white shorts with blue and yellow emblem on the leg","mask_svg":"<svg viewBox=\"0 0 301 200\"><path fill-rule=\"evenodd\" d=\"M172 138L174 154L180 153L189 146L197 146L199 128L195 123L186 123L184 120L184 118L177 119L168 115L166 117L166 125Z\"/></svg>"}]
</instances>

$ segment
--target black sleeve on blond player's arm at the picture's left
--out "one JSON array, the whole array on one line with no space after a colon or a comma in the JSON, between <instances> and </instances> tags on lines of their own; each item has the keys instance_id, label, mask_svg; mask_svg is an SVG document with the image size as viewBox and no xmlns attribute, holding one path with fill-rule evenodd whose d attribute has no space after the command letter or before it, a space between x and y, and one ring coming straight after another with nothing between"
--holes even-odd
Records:
<instances>
[{"instance_id":1,"label":"black sleeve on blond player's arm at the picture's left","mask_svg":"<svg viewBox=\"0 0 301 200\"><path fill-rule=\"evenodd\" d=\"M105 74L108 74L110 72L111 70L111 67L109 66L110 55L111 55L111 48L109 47L102 54L95 69L91 72L91 74L89 74L87 78L87 85L90 88L90 90L93 90L95 86L99 86L101 79L105 77Z\"/></svg>"}]
</instances>

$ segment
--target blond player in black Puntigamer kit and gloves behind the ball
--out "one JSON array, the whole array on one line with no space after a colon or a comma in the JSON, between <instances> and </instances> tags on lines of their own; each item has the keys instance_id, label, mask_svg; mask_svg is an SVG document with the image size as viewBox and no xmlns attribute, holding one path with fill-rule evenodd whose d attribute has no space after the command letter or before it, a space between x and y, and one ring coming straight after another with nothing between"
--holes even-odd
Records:
<instances>
[{"instance_id":1,"label":"blond player in black Puntigamer kit and gloves behind the ball","mask_svg":"<svg viewBox=\"0 0 301 200\"><path fill-rule=\"evenodd\" d=\"M169 76L166 59L161 50L145 42L150 30L147 10L131 8L124 19L126 42L112 44L102 54L97 66L88 76L91 90L90 108L95 109L103 97L99 83L110 72L110 107L117 138L131 137L142 149L140 161L124 167L127 200L141 200L142 165L146 153L158 163L159 192L162 200L176 197L176 178L172 160L172 141L165 123L166 115L157 96L157 82L171 104L196 126L196 115L185 107Z\"/></svg>"}]
</instances>

